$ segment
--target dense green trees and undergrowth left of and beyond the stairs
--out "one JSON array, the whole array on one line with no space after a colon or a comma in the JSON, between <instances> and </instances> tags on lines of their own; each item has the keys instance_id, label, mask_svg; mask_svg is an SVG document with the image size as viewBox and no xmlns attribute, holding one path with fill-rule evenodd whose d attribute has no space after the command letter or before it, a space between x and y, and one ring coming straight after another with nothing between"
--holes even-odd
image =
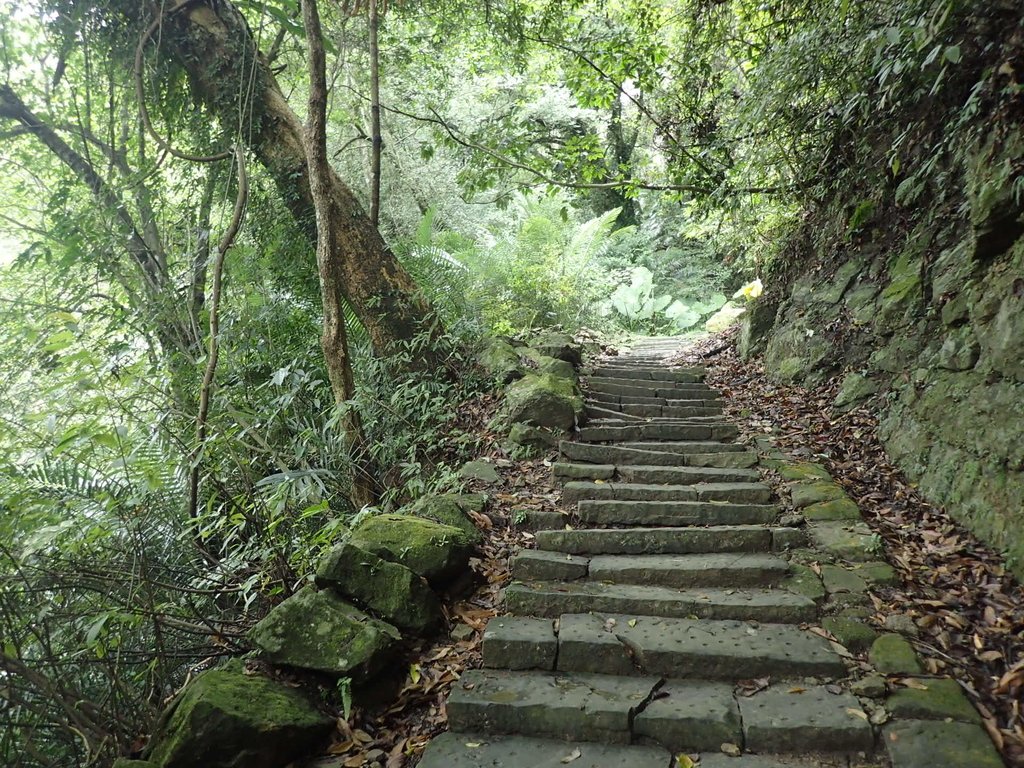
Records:
<instances>
[{"instance_id":1,"label":"dense green trees and undergrowth left of and beyond the stairs","mask_svg":"<svg viewBox=\"0 0 1024 768\"><path fill-rule=\"evenodd\" d=\"M696 329L844 186L941 195L983 5L0 0L0 762L109 764L445 486L483 336Z\"/></svg>"}]
</instances>

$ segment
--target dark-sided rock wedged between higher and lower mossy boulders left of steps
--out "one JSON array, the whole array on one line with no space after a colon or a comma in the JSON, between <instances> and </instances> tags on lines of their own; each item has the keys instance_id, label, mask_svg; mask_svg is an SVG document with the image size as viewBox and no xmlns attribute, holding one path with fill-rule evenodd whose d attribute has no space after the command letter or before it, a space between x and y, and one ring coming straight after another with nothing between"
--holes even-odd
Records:
<instances>
[{"instance_id":1,"label":"dark-sided rock wedged between higher and lower mossy boulders left of steps","mask_svg":"<svg viewBox=\"0 0 1024 768\"><path fill-rule=\"evenodd\" d=\"M441 623L440 601L422 578L348 542L321 560L316 584L415 635L429 634Z\"/></svg>"}]
</instances>

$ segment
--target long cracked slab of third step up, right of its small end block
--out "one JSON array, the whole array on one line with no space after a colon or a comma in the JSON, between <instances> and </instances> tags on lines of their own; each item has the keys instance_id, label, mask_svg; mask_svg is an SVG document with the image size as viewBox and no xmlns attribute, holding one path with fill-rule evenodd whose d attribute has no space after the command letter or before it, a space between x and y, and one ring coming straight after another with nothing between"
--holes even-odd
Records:
<instances>
[{"instance_id":1,"label":"long cracked slab of third step up, right of its small end block","mask_svg":"<svg viewBox=\"0 0 1024 768\"><path fill-rule=\"evenodd\" d=\"M565 672L730 681L846 674L827 640L785 624L564 614L558 642L558 669Z\"/></svg>"}]
</instances>

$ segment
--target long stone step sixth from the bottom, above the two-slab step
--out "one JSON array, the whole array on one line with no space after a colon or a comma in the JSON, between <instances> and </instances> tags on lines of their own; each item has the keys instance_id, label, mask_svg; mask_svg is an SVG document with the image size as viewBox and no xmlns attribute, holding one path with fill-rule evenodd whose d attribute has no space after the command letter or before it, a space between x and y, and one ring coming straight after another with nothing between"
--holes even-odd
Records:
<instances>
[{"instance_id":1,"label":"long stone step sixth from the bottom, above the two-slab step","mask_svg":"<svg viewBox=\"0 0 1024 768\"><path fill-rule=\"evenodd\" d=\"M711 527L580 528L539 530L537 546L570 555L688 555L709 552L771 552L764 525Z\"/></svg>"}]
</instances>

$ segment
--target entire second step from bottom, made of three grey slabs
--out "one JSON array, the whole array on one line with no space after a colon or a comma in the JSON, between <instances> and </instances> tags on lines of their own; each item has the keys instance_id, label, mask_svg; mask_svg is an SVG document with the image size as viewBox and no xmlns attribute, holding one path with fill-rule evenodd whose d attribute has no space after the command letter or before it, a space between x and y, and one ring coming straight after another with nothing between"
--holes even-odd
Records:
<instances>
[{"instance_id":1,"label":"entire second step from bottom, made of three grey slabs","mask_svg":"<svg viewBox=\"0 0 1024 768\"><path fill-rule=\"evenodd\" d=\"M760 753L804 752L808 743L826 752L873 748L873 730L849 693L783 685L746 697L732 688L708 680L468 670L452 688L447 716L456 731L643 739L672 752L724 742Z\"/></svg>"}]
</instances>

